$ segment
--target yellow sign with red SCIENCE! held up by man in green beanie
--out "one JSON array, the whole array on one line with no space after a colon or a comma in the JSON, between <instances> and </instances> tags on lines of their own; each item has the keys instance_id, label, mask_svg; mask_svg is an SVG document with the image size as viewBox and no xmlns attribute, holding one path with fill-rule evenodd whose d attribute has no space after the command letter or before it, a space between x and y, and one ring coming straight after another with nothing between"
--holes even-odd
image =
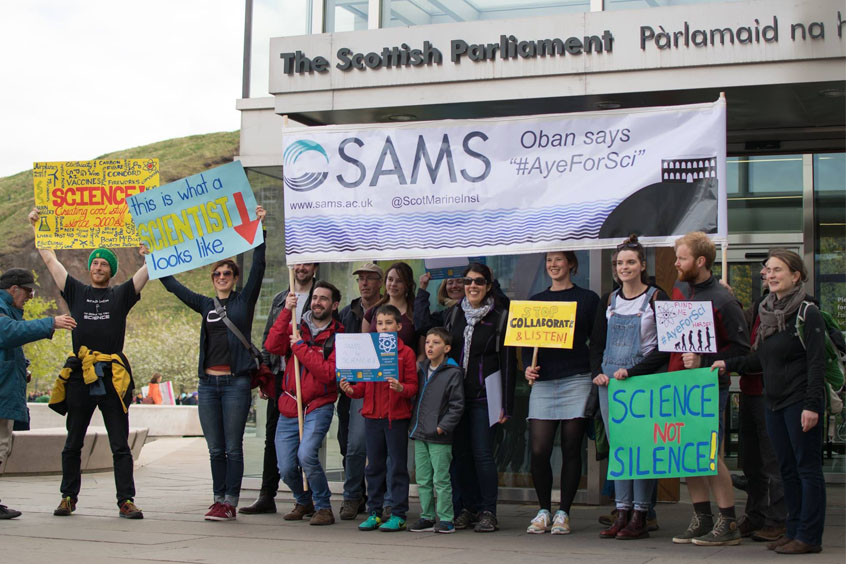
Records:
<instances>
[{"instance_id":1,"label":"yellow sign with red SCIENCE! held up by man in green beanie","mask_svg":"<svg viewBox=\"0 0 846 564\"><path fill-rule=\"evenodd\" d=\"M39 249L138 245L126 198L159 185L158 159L42 162L32 167Z\"/></svg>"}]
</instances>

